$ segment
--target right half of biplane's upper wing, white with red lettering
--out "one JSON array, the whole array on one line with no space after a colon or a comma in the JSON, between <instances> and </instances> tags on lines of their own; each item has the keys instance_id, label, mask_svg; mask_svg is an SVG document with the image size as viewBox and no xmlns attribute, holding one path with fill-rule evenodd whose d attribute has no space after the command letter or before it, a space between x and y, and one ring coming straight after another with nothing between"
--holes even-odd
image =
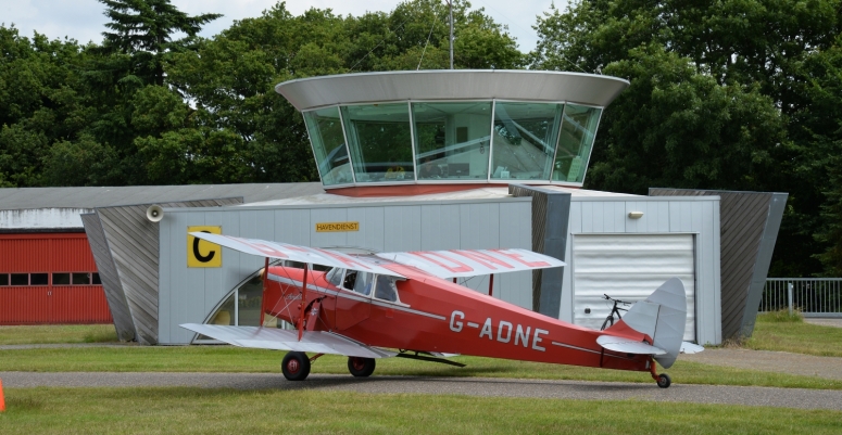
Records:
<instances>
[{"instance_id":1,"label":"right half of biplane's upper wing, white with red lettering","mask_svg":"<svg viewBox=\"0 0 842 435\"><path fill-rule=\"evenodd\" d=\"M557 258L517 248L412 251L376 255L443 279L565 266Z\"/></svg>"}]
</instances>

